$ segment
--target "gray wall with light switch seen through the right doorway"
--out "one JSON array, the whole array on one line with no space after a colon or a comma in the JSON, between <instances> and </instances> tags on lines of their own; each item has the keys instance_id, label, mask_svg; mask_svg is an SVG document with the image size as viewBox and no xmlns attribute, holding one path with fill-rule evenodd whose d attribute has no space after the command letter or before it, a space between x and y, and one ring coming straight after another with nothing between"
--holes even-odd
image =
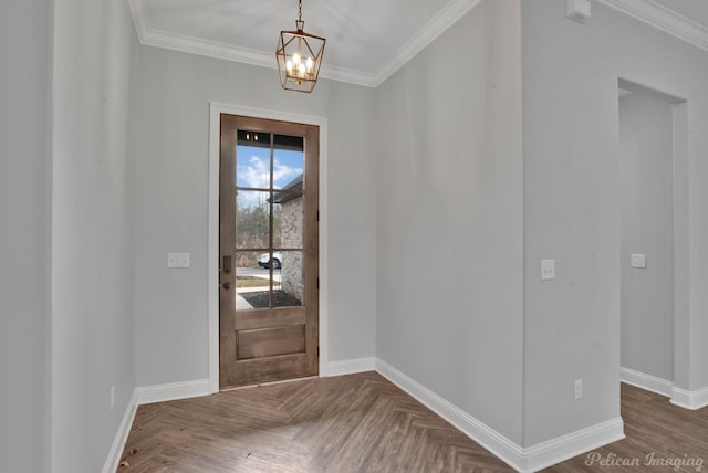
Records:
<instances>
[{"instance_id":1,"label":"gray wall with light switch seen through the right doorway","mask_svg":"<svg viewBox=\"0 0 708 473\"><path fill-rule=\"evenodd\" d=\"M671 104L620 98L622 187L622 367L674 380ZM632 253L646 269L629 266Z\"/></svg>"}]
</instances>

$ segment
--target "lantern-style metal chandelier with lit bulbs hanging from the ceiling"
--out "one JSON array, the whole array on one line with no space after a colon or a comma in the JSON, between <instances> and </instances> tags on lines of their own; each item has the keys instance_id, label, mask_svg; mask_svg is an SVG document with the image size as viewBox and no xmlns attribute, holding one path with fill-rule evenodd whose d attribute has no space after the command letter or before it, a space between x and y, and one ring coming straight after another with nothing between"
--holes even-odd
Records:
<instances>
[{"instance_id":1,"label":"lantern-style metal chandelier with lit bulbs hanging from the ceiling","mask_svg":"<svg viewBox=\"0 0 708 473\"><path fill-rule=\"evenodd\" d=\"M280 85L287 91L312 92L320 75L326 40L305 33L304 25L302 0L298 0L296 31L281 31L275 50Z\"/></svg>"}]
</instances>

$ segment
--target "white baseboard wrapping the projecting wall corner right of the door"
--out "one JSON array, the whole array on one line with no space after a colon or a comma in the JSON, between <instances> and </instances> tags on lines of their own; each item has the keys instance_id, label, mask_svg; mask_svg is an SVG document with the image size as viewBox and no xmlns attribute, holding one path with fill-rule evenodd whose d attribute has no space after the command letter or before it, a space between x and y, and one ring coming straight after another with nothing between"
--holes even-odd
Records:
<instances>
[{"instance_id":1,"label":"white baseboard wrapping the projecting wall corner right of the door","mask_svg":"<svg viewBox=\"0 0 708 473\"><path fill-rule=\"evenodd\" d=\"M534 472L624 439L622 418L522 448L381 359L376 370L519 472Z\"/></svg>"}]
</instances>

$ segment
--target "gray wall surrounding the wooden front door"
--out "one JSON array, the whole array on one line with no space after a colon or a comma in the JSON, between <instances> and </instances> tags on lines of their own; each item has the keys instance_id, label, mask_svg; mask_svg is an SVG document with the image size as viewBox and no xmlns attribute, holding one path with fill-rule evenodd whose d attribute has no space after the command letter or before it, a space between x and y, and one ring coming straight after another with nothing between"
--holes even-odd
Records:
<instances>
[{"instance_id":1,"label":"gray wall surrounding the wooden front door","mask_svg":"<svg viewBox=\"0 0 708 473\"><path fill-rule=\"evenodd\" d=\"M280 88L274 70L149 46L138 53L135 126L137 385L206 379L209 103L329 119L329 356L374 356L374 92L320 81ZM169 251L191 269L168 270Z\"/></svg>"}]
</instances>

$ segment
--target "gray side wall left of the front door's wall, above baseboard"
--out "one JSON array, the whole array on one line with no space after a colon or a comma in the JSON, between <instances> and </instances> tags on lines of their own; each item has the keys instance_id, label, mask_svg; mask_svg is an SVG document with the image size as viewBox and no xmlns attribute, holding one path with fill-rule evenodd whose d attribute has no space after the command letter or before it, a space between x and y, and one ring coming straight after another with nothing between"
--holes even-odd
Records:
<instances>
[{"instance_id":1,"label":"gray side wall left of the front door's wall, above baseboard","mask_svg":"<svg viewBox=\"0 0 708 473\"><path fill-rule=\"evenodd\" d=\"M125 2L55 2L53 472L101 471L135 388L133 178L127 153L135 46Z\"/></svg>"}]
</instances>

